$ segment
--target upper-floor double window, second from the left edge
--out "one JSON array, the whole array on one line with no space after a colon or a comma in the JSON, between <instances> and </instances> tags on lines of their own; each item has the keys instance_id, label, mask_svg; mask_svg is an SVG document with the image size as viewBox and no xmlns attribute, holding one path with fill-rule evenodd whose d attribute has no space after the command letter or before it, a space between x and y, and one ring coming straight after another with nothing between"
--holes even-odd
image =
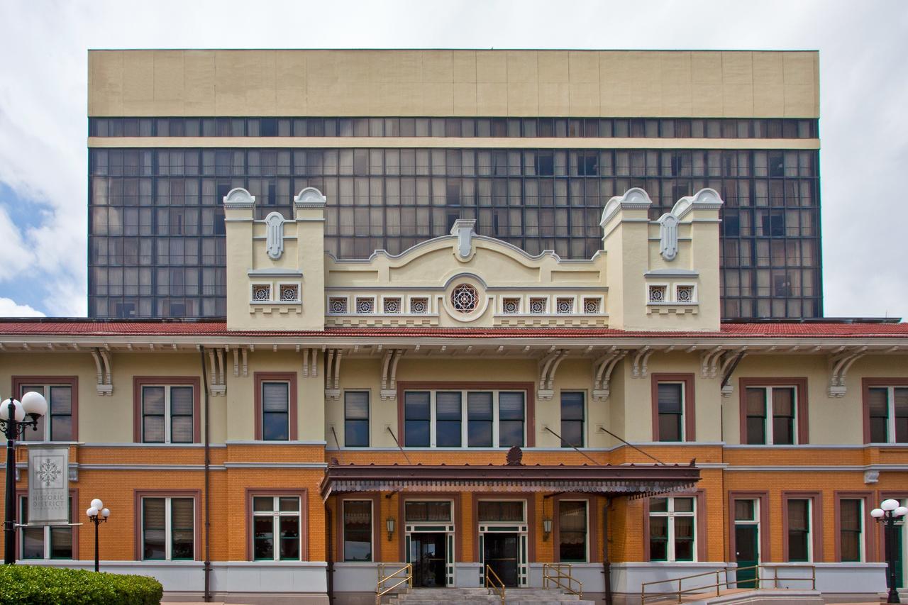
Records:
<instances>
[{"instance_id":1,"label":"upper-floor double window, second from the left edge","mask_svg":"<svg viewBox=\"0 0 908 605\"><path fill-rule=\"evenodd\" d=\"M192 386L142 386L142 442L192 443Z\"/></svg>"}]
</instances>

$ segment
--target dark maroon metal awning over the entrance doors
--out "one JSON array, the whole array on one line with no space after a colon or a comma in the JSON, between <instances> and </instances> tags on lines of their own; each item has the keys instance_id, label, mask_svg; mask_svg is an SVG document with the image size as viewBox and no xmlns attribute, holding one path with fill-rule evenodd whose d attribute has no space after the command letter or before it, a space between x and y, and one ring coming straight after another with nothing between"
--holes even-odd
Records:
<instances>
[{"instance_id":1,"label":"dark maroon metal awning over the entrance doors","mask_svg":"<svg viewBox=\"0 0 908 605\"><path fill-rule=\"evenodd\" d=\"M690 465L399 465L331 463L321 496L357 491L580 491L642 498L687 491L700 481Z\"/></svg>"}]
</instances>

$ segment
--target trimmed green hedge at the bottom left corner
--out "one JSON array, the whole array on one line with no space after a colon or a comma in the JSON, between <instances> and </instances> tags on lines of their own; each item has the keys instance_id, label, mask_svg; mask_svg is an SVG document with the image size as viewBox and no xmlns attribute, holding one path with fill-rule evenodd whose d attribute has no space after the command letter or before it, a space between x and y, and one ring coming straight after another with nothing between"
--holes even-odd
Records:
<instances>
[{"instance_id":1,"label":"trimmed green hedge at the bottom left corner","mask_svg":"<svg viewBox=\"0 0 908 605\"><path fill-rule=\"evenodd\" d=\"M0 605L160 605L161 582L146 576L4 565Z\"/></svg>"}]
</instances>

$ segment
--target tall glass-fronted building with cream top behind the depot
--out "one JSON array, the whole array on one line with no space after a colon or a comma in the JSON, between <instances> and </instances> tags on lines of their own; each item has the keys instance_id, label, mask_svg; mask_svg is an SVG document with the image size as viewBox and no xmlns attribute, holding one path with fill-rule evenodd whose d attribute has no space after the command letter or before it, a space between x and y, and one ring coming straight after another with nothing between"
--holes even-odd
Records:
<instances>
[{"instance_id":1,"label":"tall glass-fronted building with cream top behind the depot","mask_svg":"<svg viewBox=\"0 0 908 605\"><path fill-rule=\"evenodd\" d=\"M328 199L325 249L458 219L589 259L607 200L725 200L722 316L823 315L815 52L94 51L89 316L223 317L223 196Z\"/></svg>"}]
</instances>

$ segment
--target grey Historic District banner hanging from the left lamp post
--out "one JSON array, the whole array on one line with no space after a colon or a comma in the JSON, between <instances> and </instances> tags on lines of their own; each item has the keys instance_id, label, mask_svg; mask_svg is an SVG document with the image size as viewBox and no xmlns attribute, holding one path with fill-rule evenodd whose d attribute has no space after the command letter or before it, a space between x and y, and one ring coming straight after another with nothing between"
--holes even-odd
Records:
<instances>
[{"instance_id":1,"label":"grey Historic District banner hanging from the left lamp post","mask_svg":"<svg viewBox=\"0 0 908 605\"><path fill-rule=\"evenodd\" d=\"M28 446L28 524L69 522L69 446Z\"/></svg>"}]
</instances>

